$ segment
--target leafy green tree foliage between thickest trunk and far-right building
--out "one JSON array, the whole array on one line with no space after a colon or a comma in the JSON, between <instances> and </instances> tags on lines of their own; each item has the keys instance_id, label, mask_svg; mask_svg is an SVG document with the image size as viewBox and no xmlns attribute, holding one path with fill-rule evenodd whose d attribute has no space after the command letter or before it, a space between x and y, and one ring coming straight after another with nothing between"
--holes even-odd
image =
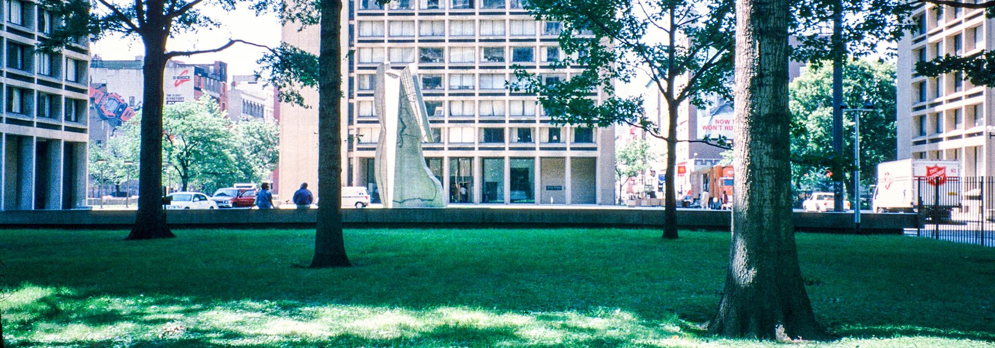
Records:
<instances>
[{"instance_id":1,"label":"leafy green tree foliage between thickest trunk and far-right building","mask_svg":"<svg viewBox=\"0 0 995 348\"><path fill-rule=\"evenodd\" d=\"M833 67L810 66L795 79L791 92L792 181L798 190L824 190L831 186L827 175L834 168ZM896 155L895 66L885 62L851 61L843 70L844 104L874 111L848 111L844 114L844 157L836 158L839 168L854 169L854 121L861 117L861 178L865 185L875 181L877 164ZM849 181L848 181L849 182Z\"/></svg>"}]
</instances>

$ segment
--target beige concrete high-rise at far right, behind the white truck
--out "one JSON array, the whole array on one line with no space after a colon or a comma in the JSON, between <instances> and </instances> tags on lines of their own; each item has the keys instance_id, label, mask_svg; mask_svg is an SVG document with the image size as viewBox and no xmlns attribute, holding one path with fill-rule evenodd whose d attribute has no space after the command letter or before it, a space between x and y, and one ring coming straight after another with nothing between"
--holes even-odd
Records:
<instances>
[{"instance_id":1,"label":"beige concrete high-rise at far right, behind the white truck","mask_svg":"<svg viewBox=\"0 0 995 348\"><path fill-rule=\"evenodd\" d=\"M916 62L995 50L995 19L984 10L932 4L913 18L917 27L898 42L897 158L959 160L964 176L995 175L995 133L988 128L995 88L974 86L961 73L915 73Z\"/></svg>"}]
</instances>

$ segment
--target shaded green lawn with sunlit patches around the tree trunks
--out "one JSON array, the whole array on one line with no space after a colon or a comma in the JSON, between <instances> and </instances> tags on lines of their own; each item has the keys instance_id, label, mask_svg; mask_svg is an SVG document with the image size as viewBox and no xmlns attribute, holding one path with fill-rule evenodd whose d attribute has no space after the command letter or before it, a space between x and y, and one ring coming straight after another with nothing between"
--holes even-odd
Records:
<instances>
[{"instance_id":1,"label":"shaded green lawn with sunlit patches around the tree trunks","mask_svg":"<svg viewBox=\"0 0 995 348\"><path fill-rule=\"evenodd\" d=\"M354 267L307 269L307 230L0 231L13 346L776 346L721 340L728 234L348 230ZM790 346L995 346L995 250L798 236L822 323Z\"/></svg>"}]
</instances>

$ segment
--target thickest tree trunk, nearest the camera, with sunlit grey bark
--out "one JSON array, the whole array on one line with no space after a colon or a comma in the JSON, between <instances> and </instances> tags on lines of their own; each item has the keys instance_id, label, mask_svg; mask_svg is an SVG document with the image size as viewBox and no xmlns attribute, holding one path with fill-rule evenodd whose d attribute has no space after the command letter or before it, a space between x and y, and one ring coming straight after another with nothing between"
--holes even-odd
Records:
<instances>
[{"instance_id":1,"label":"thickest tree trunk, nearest the camera, with sunlit grey bark","mask_svg":"<svg viewBox=\"0 0 995 348\"><path fill-rule=\"evenodd\" d=\"M725 288L708 332L820 339L791 221L787 0L736 1L735 190Z\"/></svg>"}]
</instances>

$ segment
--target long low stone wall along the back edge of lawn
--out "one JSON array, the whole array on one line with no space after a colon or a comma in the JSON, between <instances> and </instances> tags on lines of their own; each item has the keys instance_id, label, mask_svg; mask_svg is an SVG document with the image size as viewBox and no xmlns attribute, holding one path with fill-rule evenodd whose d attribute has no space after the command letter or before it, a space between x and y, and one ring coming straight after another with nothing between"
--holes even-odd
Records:
<instances>
[{"instance_id":1,"label":"long low stone wall along the back edge of lawn","mask_svg":"<svg viewBox=\"0 0 995 348\"><path fill-rule=\"evenodd\" d=\"M253 228L313 225L317 210L170 210L166 220L183 227ZM0 228L127 228L134 211L42 210L0 212ZM798 231L853 233L853 215L800 213L793 215ZM772 217L774 219L774 217ZM651 209L344 209L342 220L352 227L434 225L443 227L648 227L666 224L663 210ZM729 211L679 210L682 229L728 231ZM900 234L915 228L913 214L863 214L862 233Z\"/></svg>"}]
</instances>

